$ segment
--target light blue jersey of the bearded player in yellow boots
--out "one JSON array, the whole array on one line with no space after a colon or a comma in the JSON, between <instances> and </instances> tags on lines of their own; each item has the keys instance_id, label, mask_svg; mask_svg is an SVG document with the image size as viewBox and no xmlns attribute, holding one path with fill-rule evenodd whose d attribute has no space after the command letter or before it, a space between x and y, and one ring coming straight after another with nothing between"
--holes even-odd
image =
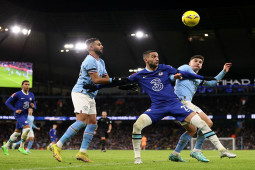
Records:
<instances>
[{"instance_id":1,"label":"light blue jersey of the bearded player in yellow boots","mask_svg":"<svg viewBox=\"0 0 255 170\"><path fill-rule=\"evenodd\" d=\"M87 90L83 89L83 85L93 84L93 81L89 76L89 73L92 72L97 72L99 77L103 77L107 74L104 61L101 58L97 60L95 57L89 54L81 64L79 78L74 85L72 92L80 92L89 95L91 98L95 98L98 90L94 92L87 92Z\"/></svg>"}]
</instances>

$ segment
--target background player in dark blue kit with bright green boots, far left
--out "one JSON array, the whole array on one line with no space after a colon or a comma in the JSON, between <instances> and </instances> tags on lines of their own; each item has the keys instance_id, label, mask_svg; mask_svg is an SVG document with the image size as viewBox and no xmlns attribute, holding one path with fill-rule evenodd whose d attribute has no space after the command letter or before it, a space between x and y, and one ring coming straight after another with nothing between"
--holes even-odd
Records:
<instances>
[{"instance_id":1,"label":"background player in dark blue kit with bright green boots, far left","mask_svg":"<svg viewBox=\"0 0 255 170\"><path fill-rule=\"evenodd\" d=\"M29 107L36 108L36 104L34 94L29 92L30 84L28 80L22 82L21 88L21 91L12 94L5 102L6 106L14 112L14 117L17 120L14 133L10 136L8 142L2 146L5 155L8 155L9 146L21 135L22 129L21 143L18 151L25 155L28 154L24 149L24 143L30 131L27 121L28 109Z\"/></svg>"}]
</instances>

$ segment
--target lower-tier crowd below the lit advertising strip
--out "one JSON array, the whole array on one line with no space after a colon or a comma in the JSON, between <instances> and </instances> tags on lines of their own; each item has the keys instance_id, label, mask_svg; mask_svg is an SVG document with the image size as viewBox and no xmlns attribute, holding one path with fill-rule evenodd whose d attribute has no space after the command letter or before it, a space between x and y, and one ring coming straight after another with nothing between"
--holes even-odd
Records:
<instances>
[{"instance_id":1,"label":"lower-tier crowd below the lit advertising strip","mask_svg":"<svg viewBox=\"0 0 255 170\"><path fill-rule=\"evenodd\" d=\"M61 137L66 129L72 124L73 121L64 121L58 123L57 136ZM46 149L50 143L49 131L52 124L56 122L37 121L37 126L41 127L40 131L34 130L35 143L33 149ZM132 149L132 125L134 121L113 121L113 128L107 139L107 149ZM242 124L240 126L240 123ZM8 128L6 128L8 127ZM0 134L0 142L7 141L10 134L12 134L15 124L14 122L1 123L0 128L7 129ZM214 122L212 128L218 137L233 137L236 139L237 149L255 149L255 126L253 122L226 120L225 123ZM80 130L72 140L69 140L63 146L64 149L79 149L82 141L84 130ZM174 149L178 140L185 129L177 121L160 121L146 127L142 134L148 139L146 149ZM227 144L226 144L227 145ZM229 141L228 145L232 146ZM229 147L229 146L228 146ZM98 134L89 146L89 149L100 149L100 137ZM190 149L190 144L186 146ZM231 148L229 148L231 149Z\"/></svg>"}]
</instances>

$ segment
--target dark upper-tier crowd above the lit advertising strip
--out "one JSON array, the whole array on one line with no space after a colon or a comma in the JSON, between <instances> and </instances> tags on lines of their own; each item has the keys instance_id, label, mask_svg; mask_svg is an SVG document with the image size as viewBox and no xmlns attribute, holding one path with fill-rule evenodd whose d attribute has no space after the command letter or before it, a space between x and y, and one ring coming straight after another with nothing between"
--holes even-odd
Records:
<instances>
[{"instance_id":1,"label":"dark upper-tier crowd above the lit advertising strip","mask_svg":"<svg viewBox=\"0 0 255 170\"><path fill-rule=\"evenodd\" d=\"M35 96L36 97L36 96ZM1 98L0 115L13 115ZM111 116L139 116L150 107L150 98L139 96L98 96L97 112L106 110ZM252 114L255 110L255 96L195 96L193 103L207 115ZM73 116L73 103L70 97L36 98L35 116Z\"/></svg>"}]
</instances>

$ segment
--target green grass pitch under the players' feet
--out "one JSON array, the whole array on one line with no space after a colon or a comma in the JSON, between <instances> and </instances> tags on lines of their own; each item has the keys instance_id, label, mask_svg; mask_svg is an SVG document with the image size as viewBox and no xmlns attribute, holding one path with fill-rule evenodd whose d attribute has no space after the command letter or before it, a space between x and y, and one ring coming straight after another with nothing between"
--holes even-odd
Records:
<instances>
[{"instance_id":1,"label":"green grass pitch under the players' feet","mask_svg":"<svg viewBox=\"0 0 255 170\"><path fill-rule=\"evenodd\" d=\"M209 163L198 162L189 156L190 151L184 150L182 157L188 162L171 162L168 160L172 150L145 150L142 151L143 164L133 164L132 150L88 150L94 163L84 163L75 159L77 150L63 150L63 162L57 162L52 157L52 152L47 150L31 150L29 155L22 155L17 150L9 150L6 156L0 153L1 170L51 170L51 169L222 169L222 170L248 170L255 169L255 151L233 151L236 158L220 159L218 151L204 151L203 154L210 160Z\"/></svg>"}]
</instances>

